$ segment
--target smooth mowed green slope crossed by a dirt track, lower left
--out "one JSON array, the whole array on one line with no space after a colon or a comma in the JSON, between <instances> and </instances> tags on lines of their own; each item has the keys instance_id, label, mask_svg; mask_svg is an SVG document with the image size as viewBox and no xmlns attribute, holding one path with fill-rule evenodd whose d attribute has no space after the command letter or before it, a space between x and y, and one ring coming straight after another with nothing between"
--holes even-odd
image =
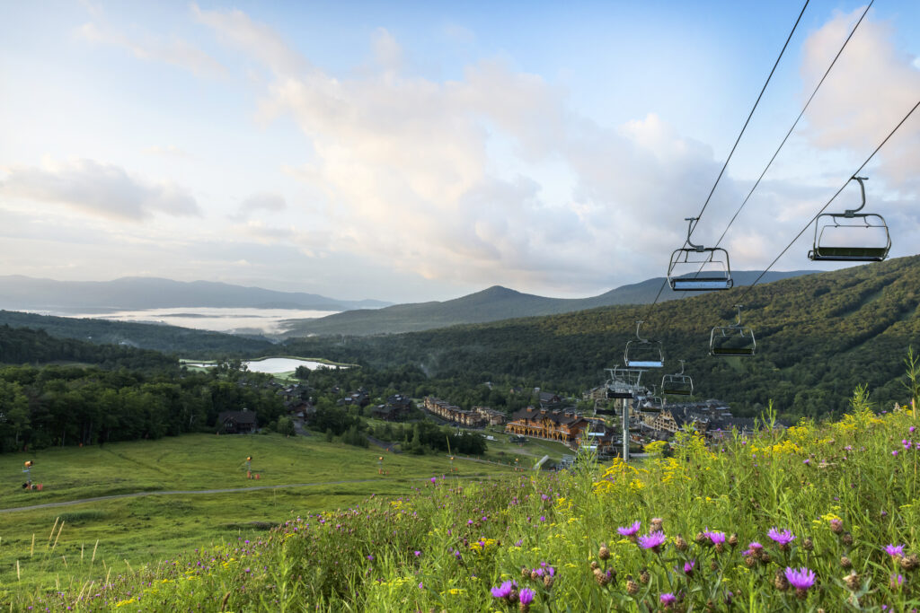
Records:
<instances>
[{"instance_id":1,"label":"smooth mowed green slope crossed by a dirt track, lower left","mask_svg":"<svg viewBox=\"0 0 920 613\"><path fill-rule=\"evenodd\" d=\"M249 455L258 481L246 477ZM385 475L377 473L380 456ZM25 460L35 461L32 479L42 483L41 492L22 489ZM454 460L454 468L455 477L465 478L511 472L461 457ZM213 543L258 539L289 518L347 508L372 494L406 494L424 487L420 480L448 471L450 461L444 456L391 454L319 437L275 434L186 435L5 454L0 456L0 585L54 589L69 584L71 577L77 582L105 577L109 568L121 573ZM137 492L273 485L298 486L9 510Z\"/></svg>"}]
</instances>

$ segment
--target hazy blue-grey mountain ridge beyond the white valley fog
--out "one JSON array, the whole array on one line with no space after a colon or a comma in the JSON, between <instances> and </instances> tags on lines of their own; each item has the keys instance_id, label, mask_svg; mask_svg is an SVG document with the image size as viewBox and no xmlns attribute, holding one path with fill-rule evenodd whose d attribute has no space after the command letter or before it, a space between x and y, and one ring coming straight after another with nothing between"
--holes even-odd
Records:
<instances>
[{"instance_id":1,"label":"hazy blue-grey mountain ridge beyond the white valley fog","mask_svg":"<svg viewBox=\"0 0 920 613\"><path fill-rule=\"evenodd\" d=\"M340 301L317 294L247 288L212 281L125 277L113 281L55 281L19 275L0 277L0 309L110 312L172 307L224 307L348 311L391 304Z\"/></svg>"}]
</instances>

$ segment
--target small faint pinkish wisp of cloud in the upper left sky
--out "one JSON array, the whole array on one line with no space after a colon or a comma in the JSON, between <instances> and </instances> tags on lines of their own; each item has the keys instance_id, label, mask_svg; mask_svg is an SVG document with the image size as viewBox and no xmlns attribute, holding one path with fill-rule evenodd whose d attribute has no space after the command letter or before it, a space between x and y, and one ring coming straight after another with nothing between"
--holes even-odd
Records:
<instances>
[{"instance_id":1,"label":"small faint pinkish wisp of cloud in the upper left sky","mask_svg":"<svg viewBox=\"0 0 920 613\"><path fill-rule=\"evenodd\" d=\"M146 34L128 36L114 28L86 23L76 30L84 40L131 51L140 60L167 62L200 76L223 76L226 68L186 40L159 40Z\"/></svg>"}]
</instances>

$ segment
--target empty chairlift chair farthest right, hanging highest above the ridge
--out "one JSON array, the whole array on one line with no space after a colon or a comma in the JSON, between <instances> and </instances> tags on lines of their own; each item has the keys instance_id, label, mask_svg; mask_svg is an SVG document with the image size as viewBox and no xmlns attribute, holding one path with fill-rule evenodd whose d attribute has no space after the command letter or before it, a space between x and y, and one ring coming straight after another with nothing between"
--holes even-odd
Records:
<instances>
[{"instance_id":1,"label":"empty chairlift chair farthest right, hanging highest above the ridge","mask_svg":"<svg viewBox=\"0 0 920 613\"><path fill-rule=\"evenodd\" d=\"M808 252L815 262L880 262L888 257L891 234L877 213L860 213L866 206L868 177L854 176L862 204L842 213L821 213L814 222L814 246ZM851 179L851 180L853 180Z\"/></svg>"}]
</instances>

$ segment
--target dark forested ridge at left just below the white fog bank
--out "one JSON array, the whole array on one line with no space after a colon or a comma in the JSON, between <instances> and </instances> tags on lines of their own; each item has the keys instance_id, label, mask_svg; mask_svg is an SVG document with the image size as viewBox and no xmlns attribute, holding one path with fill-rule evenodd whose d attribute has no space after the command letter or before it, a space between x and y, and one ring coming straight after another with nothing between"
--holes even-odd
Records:
<instances>
[{"instance_id":1,"label":"dark forested ridge at left just below the white fog bank","mask_svg":"<svg viewBox=\"0 0 920 613\"><path fill-rule=\"evenodd\" d=\"M49 335L76 338L98 345L127 345L197 358L264 356L267 340L180 328L175 325L134 324L104 319L53 317L29 312L0 311L0 325L45 330ZM13 360L17 361L17 360Z\"/></svg>"}]
</instances>

